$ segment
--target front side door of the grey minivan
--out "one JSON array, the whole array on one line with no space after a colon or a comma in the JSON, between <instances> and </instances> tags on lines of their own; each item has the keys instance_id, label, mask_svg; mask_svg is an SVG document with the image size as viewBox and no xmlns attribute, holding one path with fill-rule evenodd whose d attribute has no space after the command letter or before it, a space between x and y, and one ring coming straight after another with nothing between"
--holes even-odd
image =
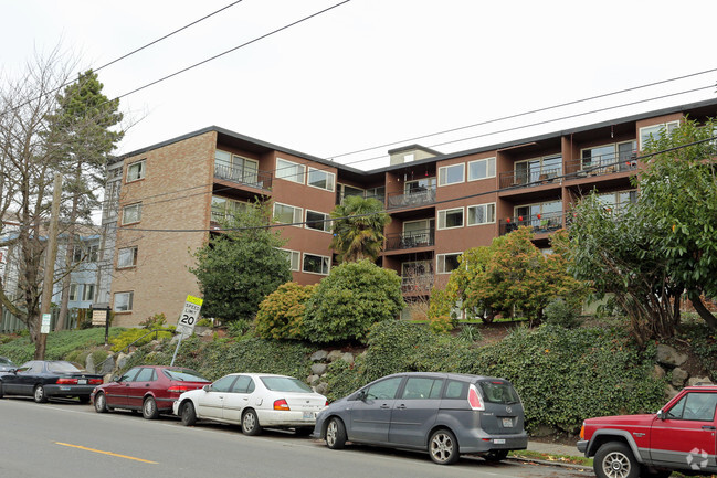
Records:
<instances>
[{"instance_id":1,"label":"front side door of the grey minivan","mask_svg":"<svg viewBox=\"0 0 717 478\"><path fill-rule=\"evenodd\" d=\"M391 376L368 385L351 407L348 439L363 443L388 443L391 412L403 376Z\"/></svg>"}]
</instances>

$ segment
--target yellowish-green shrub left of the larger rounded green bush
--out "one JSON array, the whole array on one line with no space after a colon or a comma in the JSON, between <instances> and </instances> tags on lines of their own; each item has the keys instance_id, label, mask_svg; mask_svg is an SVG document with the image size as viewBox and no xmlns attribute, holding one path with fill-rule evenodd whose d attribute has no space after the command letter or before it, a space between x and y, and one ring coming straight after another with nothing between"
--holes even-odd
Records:
<instances>
[{"instance_id":1,"label":"yellowish-green shrub left of the larger rounded green bush","mask_svg":"<svg viewBox=\"0 0 717 478\"><path fill-rule=\"evenodd\" d=\"M302 339L305 304L314 286L286 283L266 296L256 312L256 333L263 339Z\"/></svg>"}]
</instances>

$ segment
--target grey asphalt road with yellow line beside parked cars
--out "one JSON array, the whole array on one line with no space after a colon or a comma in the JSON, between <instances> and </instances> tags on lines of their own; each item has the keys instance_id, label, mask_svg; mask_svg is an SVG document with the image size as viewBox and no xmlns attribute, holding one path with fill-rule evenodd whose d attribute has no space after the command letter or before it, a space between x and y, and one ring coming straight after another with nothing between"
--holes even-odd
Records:
<instances>
[{"instance_id":1,"label":"grey asphalt road with yellow line beside parked cars","mask_svg":"<svg viewBox=\"0 0 717 478\"><path fill-rule=\"evenodd\" d=\"M265 431L244 436L239 427L173 417L143 419L128 412L98 414L76 402L36 404L0 400L2 478L450 478L592 477L560 467L461 458L434 465L428 455L366 446L330 450L323 442Z\"/></svg>"}]
</instances>

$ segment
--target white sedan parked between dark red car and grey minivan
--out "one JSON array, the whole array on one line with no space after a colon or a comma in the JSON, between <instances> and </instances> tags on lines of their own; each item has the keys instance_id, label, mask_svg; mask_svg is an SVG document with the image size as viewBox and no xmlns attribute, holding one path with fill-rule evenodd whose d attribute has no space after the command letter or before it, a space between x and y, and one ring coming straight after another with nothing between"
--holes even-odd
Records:
<instances>
[{"instance_id":1,"label":"white sedan parked between dark red car and grey minivan","mask_svg":"<svg viewBox=\"0 0 717 478\"><path fill-rule=\"evenodd\" d=\"M294 428L308 435L326 397L298 379L265 373L232 373L201 390L182 393L175 402L175 414L182 424L198 418L240 424L245 435L257 435L264 427Z\"/></svg>"}]
</instances>

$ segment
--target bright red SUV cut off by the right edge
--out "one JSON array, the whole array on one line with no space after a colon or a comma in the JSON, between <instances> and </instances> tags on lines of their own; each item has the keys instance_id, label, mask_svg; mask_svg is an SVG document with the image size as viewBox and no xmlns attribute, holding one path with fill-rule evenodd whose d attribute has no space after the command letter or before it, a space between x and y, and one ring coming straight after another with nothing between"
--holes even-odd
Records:
<instances>
[{"instance_id":1,"label":"bright red SUV cut off by the right edge","mask_svg":"<svg viewBox=\"0 0 717 478\"><path fill-rule=\"evenodd\" d=\"M717 472L717 385L687 386L651 415L586 419L578 449L599 478Z\"/></svg>"}]
</instances>

